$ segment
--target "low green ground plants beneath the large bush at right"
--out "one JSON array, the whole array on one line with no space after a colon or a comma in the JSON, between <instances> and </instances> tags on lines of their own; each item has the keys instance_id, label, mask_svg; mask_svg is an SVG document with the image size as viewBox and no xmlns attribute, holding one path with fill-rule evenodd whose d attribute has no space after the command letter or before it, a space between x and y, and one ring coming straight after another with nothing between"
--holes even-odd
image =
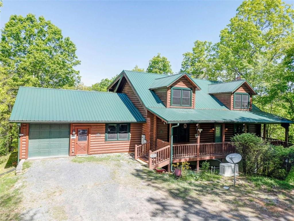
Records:
<instances>
[{"instance_id":1,"label":"low green ground plants beneath the large bush at right","mask_svg":"<svg viewBox=\"0 0 294 221\"><path fill-rule=\"evenodd\" d=\"M274 179L270 177L263 176L247 176L250 182L252 182L256 187L265 187L269 190L271 189L294 189L294 186L289 184L284 180Z\"/></svg>"}]
</instances>

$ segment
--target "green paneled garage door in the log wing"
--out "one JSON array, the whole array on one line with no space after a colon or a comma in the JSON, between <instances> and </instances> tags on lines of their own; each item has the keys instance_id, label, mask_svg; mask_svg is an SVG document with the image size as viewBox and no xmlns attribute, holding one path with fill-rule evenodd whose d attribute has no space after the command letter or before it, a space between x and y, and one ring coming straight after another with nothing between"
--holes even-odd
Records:
<instances>
[{"instance_id":1,"label":"green paneled garage door in the log wing","mask_svg":"<svg viewBox=\"0 0 294 221\"><path fill-rule=\"evenodd\" d=\"M30 124L29 156L69 155L69 124Z\"/></svg>"}]
</instances>

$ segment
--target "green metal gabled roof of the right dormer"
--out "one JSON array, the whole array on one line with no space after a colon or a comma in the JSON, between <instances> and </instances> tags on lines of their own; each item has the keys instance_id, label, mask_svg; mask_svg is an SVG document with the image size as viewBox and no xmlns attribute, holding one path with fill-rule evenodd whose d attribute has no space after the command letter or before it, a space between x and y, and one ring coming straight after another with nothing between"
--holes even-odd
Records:
<instances>
[{"instance_id":1,"label":"green metal gabled roof of the right dormer","mask_svg":"<svg viewBox=\"0 0 294 221\"><path fill-rule=\"evenodd\" d=\"M208 93L209 94L233 93L245 82L255 92L255 90L252 88L252 86L246 80L233 80L233 81L229 81L229 82L217 82L217 83L213 83L211 85L208 85Z\"/></svg>"}]
</instances>

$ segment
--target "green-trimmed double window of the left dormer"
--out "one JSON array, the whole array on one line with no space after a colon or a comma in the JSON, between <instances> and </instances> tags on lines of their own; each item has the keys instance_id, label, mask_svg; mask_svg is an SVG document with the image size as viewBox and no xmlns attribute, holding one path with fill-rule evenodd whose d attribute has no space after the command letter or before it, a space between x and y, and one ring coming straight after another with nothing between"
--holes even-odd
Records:
<instances>
[{"instance_id":1,"label":"green-trimmed double window of the left dormer","mask_svg":"<svg viewBox=\"0 0 294 221\"><path fill-rule=\"evenodd\" d=\"M171 106L191 107L192 90L190 88L171 88Z\"/></svg>"}]
</instances>

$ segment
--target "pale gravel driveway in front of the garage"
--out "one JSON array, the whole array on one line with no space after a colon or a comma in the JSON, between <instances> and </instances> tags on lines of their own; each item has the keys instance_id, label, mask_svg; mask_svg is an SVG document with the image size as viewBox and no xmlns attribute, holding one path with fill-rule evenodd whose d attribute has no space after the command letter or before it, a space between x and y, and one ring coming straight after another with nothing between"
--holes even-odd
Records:
<instances>
[{"instance_id":1,"label":"pale gravel driveway in front of the garage","mask_svg":"<svg viewBox=\"0 0 294 221\"><path fill-rule=\"evenodd\" d=\"M232 210L202 189L176 199L177 187L156 185L128 154L35 160L22 177L21 220L277 220L249 207Z\"/></svg>"}]
</instances>

